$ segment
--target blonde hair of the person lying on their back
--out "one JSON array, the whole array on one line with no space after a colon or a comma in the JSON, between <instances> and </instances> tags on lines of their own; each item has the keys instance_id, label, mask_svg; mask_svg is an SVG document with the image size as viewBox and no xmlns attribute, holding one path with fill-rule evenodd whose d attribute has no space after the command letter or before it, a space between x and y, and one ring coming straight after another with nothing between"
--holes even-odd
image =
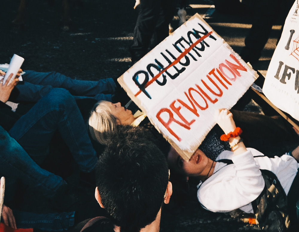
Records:
<instances>
[{"instance_id":1,"label":"blonde hair of the person lying on their back","mask_svg":"<svg viewBox=\"0 0 299 232\"><path fill-rule=\"evenodd\" d=\"M118 125L117 118L112 115L111 102L99 101L94 105L89 117L89 132L91 138L100 144L106 144L108 134Z\"/></svg>"}]
</instances>

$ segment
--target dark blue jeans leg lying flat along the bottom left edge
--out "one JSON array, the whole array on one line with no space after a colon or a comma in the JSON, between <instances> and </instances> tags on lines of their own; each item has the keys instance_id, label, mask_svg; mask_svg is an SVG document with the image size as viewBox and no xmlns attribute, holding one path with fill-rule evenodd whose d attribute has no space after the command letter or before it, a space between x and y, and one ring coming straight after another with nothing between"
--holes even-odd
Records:
<instances>
[{"instance_id":1,"label":"dark blue jeans leg lying flat along the bottom left edge","mask_svg":"<svg viewBox=\"0 0 299 232\"><path fill-rule=\"evenodd\" d=\"M74 225L75 212L31 213L13 210L17 228L63 231Z\"/></svg>"}]
</instances>

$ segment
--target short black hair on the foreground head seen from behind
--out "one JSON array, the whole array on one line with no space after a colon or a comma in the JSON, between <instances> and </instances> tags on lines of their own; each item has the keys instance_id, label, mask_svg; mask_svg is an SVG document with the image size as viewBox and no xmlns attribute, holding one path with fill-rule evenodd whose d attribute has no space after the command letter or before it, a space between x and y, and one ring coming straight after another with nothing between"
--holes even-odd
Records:
<instances>
[{"instance_id":1,"label":"short black hair on the foreground head seen from behind","mask_svg":"<svg viewBox=\"0 0 299 232\"><path fill-rule=\"evenodd\" d=\"M155 220L163 203L167 161L149 131L119 126L99 157L96 182L114 223L122 232L137 232Z\"/></svg>"}]
</instances>

